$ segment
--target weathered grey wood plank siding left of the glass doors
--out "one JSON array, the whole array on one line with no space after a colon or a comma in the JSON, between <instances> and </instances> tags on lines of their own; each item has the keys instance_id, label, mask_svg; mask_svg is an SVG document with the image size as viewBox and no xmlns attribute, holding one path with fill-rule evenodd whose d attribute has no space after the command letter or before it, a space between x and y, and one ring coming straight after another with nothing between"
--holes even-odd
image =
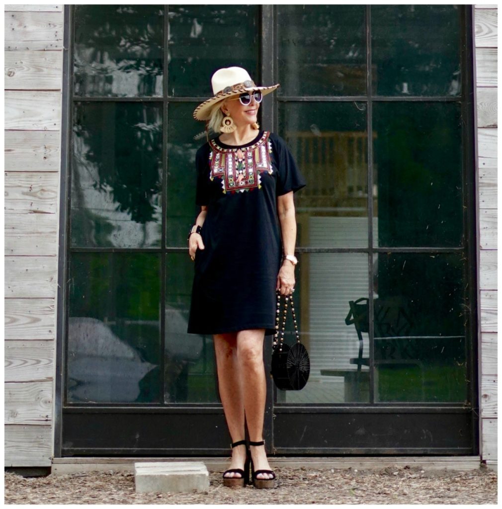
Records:
<instances>
[{"instance_id":1,"label":"weathered grey wood plank siding left of the glass doors","mask_svg":"<svg viewBox=\"0 0 502 509\"><path fill-rule=\"evenodd\" d=\"M5 6L5 466L50 466L63 5Z\"/></svg>"}]
</instances>

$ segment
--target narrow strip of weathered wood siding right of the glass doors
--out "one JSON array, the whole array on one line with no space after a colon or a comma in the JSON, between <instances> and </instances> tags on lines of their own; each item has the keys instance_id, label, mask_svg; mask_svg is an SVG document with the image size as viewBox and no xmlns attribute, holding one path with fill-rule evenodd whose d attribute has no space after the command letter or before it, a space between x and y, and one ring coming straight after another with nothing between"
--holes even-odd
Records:
<instances>
[{"instance_id":1,"label":"narrow strip of weathered wood siding right of the glass doors","mask_svg":"<svg viewBox=\"0 0 502 509\"><path fill-rule=\"evenodd\" d=\"M480 451L497 463L497 9L475 5L478 129Z\"/></svg>"}]
</instances>

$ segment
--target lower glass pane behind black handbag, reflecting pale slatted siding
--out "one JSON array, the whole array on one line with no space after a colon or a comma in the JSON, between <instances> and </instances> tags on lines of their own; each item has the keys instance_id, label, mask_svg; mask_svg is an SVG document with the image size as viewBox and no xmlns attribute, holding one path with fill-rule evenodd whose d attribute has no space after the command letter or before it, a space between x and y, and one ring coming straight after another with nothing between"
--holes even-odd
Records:
<instances>
[{"instance_id":1,"label":"lower glass pane behind black handbag, reflecting pale slatted siding","mask_svg":"<svg viewBox=\"0 0 502 509\"><path fill-rule=\"evenodd\" d=\"M351 302L368 296L368 255L304 253L295 277L298 331L311 372L302 390L277 390L277 402L368 402L368 331L350 316ZM292 345L296 336L290 313L286 331L285 341Z\"/></svg>"}]
</instances>

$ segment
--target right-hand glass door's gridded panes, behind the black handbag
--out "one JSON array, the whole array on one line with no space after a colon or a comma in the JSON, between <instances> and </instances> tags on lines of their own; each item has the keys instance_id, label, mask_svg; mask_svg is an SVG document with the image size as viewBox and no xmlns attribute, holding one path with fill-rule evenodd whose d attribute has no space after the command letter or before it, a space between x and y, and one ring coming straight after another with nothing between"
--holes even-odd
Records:
<instances>
[{"instance_id":1,"label":"right-hand glass door's gridded panes, behind the black handbag","mask_svg":"<svg viewBox=\"0 0 502 509\"><path fill-rule=\"evenodd\" d=\"M458 6L276 9L277 129L307 180L295 296L311 352L309 383L277 403L464 402Z\"/></svg>"}]
</instances>

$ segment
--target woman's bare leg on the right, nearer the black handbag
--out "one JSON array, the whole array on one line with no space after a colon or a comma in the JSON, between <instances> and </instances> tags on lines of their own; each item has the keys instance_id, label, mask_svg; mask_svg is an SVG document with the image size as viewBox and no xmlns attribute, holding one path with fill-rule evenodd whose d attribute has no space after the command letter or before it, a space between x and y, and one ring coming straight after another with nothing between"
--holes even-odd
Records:
<instances>
[{"instance_id":1,"label":"woman's bare leg on the right, nearer the black handbag","mask_svg":"<svg viewBox=\"0 0 502 509\"><path fill-rule=\"evenodd\" d=\"M263 419L267 385L263 365L263 338L265 329L237 332L237 363L241 384L244 388L244 409L249 440L258 442L263 438ZM255 470L270 470L265 446L250 446ZM258 479L271 478L271 474L258 474Z\"/></svg>"}]
</instances>

